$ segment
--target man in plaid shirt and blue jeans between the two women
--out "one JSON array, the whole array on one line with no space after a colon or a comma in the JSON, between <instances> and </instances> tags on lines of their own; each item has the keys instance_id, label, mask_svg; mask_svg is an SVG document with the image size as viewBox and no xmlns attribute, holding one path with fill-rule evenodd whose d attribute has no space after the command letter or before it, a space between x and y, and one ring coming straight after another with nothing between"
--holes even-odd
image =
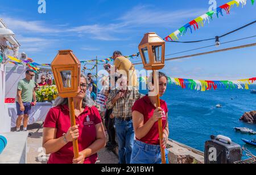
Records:
<instances>
[{"instance_id":1,"label":"man in plaid shirt and blue jeans between the two women","mask_svg":"<svg viewBox=\"0 0 256 175\"><path fill-rule=\"evenodd\" d=\"M134 141L133 121L131 108L135 101L144 95L139 93L138 87L127 86L127 77L121 76L117 80L118 87L109 94L106 102L107 109L113 108L115 128L118 139L119 164L130 164L131 151Z\"/></svg>"}]
</instances>

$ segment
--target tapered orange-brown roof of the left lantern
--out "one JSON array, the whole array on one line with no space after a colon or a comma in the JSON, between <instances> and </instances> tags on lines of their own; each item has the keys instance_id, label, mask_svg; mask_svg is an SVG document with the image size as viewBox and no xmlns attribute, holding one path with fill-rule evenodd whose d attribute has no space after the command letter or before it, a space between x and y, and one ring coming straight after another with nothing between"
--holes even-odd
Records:
<instances>
[{"instance_id":1,"label":"tapered orange-brown roof of the left lantern","mask_svg":"<svg viewBox=\"0 0 256 175\"><path fill-rule=\"evenodd\" d=\"M81 64L79 59L73 54L72 50L59 51L55 59L52 61L52 65L74 65Z\"/></svg>"}]
</instances>

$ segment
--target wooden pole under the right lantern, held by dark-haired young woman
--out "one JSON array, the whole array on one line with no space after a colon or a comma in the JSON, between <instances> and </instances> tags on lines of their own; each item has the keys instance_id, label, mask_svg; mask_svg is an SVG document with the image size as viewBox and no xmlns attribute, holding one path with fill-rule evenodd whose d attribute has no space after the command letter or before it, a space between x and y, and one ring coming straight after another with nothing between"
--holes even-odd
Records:
<instances>
[{"instance_id":1,"label":"wooden pole under the right lantern, held by dark-haired young woman","mask_svg":"<svg viewBox=\"0 0 256 175\"><path fill-rule=\"evenodd\" d=\"M154 87L157 93L156 95L156 107L160 106L160 97L159 97L159 77L158 77L158 70L153 70L153 77L154 77ZM163 122L162 118L158 120L158 131L159 131L159 141L160 141L160 149L161 149L161 156L162 156L162 164L166 164L166 153L163 148L162 140L163 140Z\"/></svg>"}]
</instances>

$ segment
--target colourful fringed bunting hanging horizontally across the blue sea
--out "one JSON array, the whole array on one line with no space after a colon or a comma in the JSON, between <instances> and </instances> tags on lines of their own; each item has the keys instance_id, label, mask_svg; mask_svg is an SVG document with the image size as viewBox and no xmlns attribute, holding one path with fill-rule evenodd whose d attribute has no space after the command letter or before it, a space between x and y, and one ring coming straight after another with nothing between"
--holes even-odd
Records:
<instances>
[{"instance_id":1,"label":"colourful fringed bunting hanging horizontally across the blue sea","mask_svg":"<svg viewBox=\"0 0 256 175\"><path fill-rule=\"evenodd\" d=\"M249 90L249 85L253 84L256 81L255 78L248 78L237 81L207 81L207 80L191 80L184 78L171 78L168 77L169 84L175 84L177 86L181 86L183 89L191 89L191 90L216 90L218 88L224 89L246 89ZM147 77L139 77L139 82L147 82ZM244 85L245 87L243 87Z\"/></svg>"}]
</instances>

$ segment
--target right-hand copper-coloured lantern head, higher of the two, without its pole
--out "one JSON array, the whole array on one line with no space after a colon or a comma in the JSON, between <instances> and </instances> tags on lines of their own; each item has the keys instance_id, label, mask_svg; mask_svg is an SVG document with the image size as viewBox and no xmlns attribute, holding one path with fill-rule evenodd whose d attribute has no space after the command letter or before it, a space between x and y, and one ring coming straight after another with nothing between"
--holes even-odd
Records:
<instances>
[{"instance_id":1,"label":"right-hand copper-coloured lantern head, higher of the two, without its pole","mask_svg":"<svg viewBox=\"0 0 256 175\"><path fill-rule=\"evenodd\" d=\"M144 69L159 70L164 67L165 42L162 38L150 32L144 35L139 44Z\"/></svg>"}]
</instances>

